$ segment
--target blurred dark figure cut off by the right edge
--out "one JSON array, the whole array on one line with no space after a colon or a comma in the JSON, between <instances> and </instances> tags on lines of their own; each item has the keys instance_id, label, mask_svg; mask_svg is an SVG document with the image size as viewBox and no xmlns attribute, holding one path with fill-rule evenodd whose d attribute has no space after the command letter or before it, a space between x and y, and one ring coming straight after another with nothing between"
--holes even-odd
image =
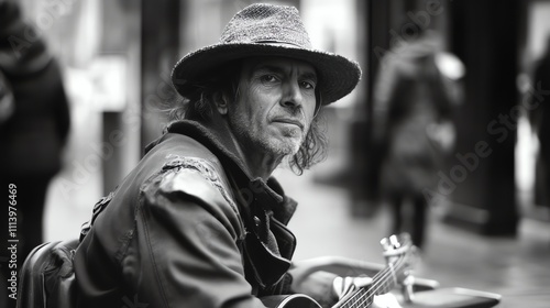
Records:
<instances>
[{"instance_id":1,"label":"blurred dark figure cut off by the right edge","mask_svg":"<svg viewBox=\"0 0 550 308\"><path fill-rule=\"evenodd\" d=\"M550 89L550 35L547 37L546 50L543 55L534 64L532 87L537 90ZM540 103L532 102L536 106L530 110L530 122L532 131L539 139L539 157L542 165L542 185L538 189L541 194L537 194L541 204L550 207L550 108L549 102L541 99L539 96L532 96L531 100L537 100Z\"/></svg>"}]
</instances>

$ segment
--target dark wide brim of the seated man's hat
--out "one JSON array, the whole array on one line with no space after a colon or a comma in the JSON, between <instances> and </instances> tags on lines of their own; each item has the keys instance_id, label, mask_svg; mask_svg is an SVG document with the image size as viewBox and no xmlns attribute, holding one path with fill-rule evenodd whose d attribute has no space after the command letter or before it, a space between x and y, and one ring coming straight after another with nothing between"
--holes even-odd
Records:
<instances>
[{"instance_id":1,"label":"dark wide brim of the seated man's hat","mask_svg":"<svg viewBox=\"0 0 550 308\"><path fill-rule=\"evenodd\" d=\"M277 44L217 44L183 57L172 72L172 82L184 97L195 91L196 81L206 73L230 61L252 56L282 56L311 64L317 70L322 105L350 94L361 79L356 62L343 56Z\"/></svg>"}]
</instances>

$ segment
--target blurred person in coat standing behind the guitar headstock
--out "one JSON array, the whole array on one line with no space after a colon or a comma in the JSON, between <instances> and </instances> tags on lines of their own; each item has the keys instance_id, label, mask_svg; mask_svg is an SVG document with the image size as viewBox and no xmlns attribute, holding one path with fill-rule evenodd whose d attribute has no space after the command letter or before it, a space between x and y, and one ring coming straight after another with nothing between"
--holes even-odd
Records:
<instances>
[{"instance_id":1,"label":"blurred person in coat standing behind the guitar headstock","mask_svg":"<svg viewBox=\"0 0 550 308\"><path fill-rule=\"evenodd\" d=\"M403 40L382 59L373 119L384 161L381 189L391 207L392 232L410 232L413 242L421 248L427 194L436 190L443 153L454 143L451 112L460 101L454 80L463 75L463 67L457 57L442 52L437 32L417 30L415 38Z\"/></svg>"}]
</instances>

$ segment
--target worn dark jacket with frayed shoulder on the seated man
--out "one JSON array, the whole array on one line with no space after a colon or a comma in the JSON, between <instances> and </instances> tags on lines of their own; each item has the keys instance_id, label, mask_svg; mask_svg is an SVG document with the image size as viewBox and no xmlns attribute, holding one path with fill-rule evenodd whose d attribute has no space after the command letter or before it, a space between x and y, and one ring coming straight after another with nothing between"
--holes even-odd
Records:
<instances>
[{"instance_id":1,"label":"worn dark jacket with frayed shoulder on the seated man","mask_svg":"<svg viewBox=\"0 0 550 308\"><path fill-rule=\"evenodd\" d=\"M251 178L220 134L173 123L96 205L74 257L77 307L264 307L289 293L296 202Z\"/></svg>"}]
</instances>

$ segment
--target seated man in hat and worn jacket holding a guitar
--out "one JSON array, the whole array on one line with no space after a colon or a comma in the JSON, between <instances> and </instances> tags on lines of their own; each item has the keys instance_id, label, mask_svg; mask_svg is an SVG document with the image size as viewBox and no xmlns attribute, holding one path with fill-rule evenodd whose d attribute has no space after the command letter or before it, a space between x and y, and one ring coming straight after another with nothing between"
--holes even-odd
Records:
<instances>
[{"instance_id":1,"label":"seated man in hat and worn jacket holding a guitar","mask_svg":"<svg viewBox=\"0 0 550 308\"><path fill-rule=\"evenodd\" d=\"M263 296L301 292L333 304L334 275L288 272L296 202L271 174L322 157L316 116L360 76L311 48L296 9L270 4L179 61L173 113L184 119L96 206L74 258L78 307L264 307Z\"/></svg>"}]
</instances>

